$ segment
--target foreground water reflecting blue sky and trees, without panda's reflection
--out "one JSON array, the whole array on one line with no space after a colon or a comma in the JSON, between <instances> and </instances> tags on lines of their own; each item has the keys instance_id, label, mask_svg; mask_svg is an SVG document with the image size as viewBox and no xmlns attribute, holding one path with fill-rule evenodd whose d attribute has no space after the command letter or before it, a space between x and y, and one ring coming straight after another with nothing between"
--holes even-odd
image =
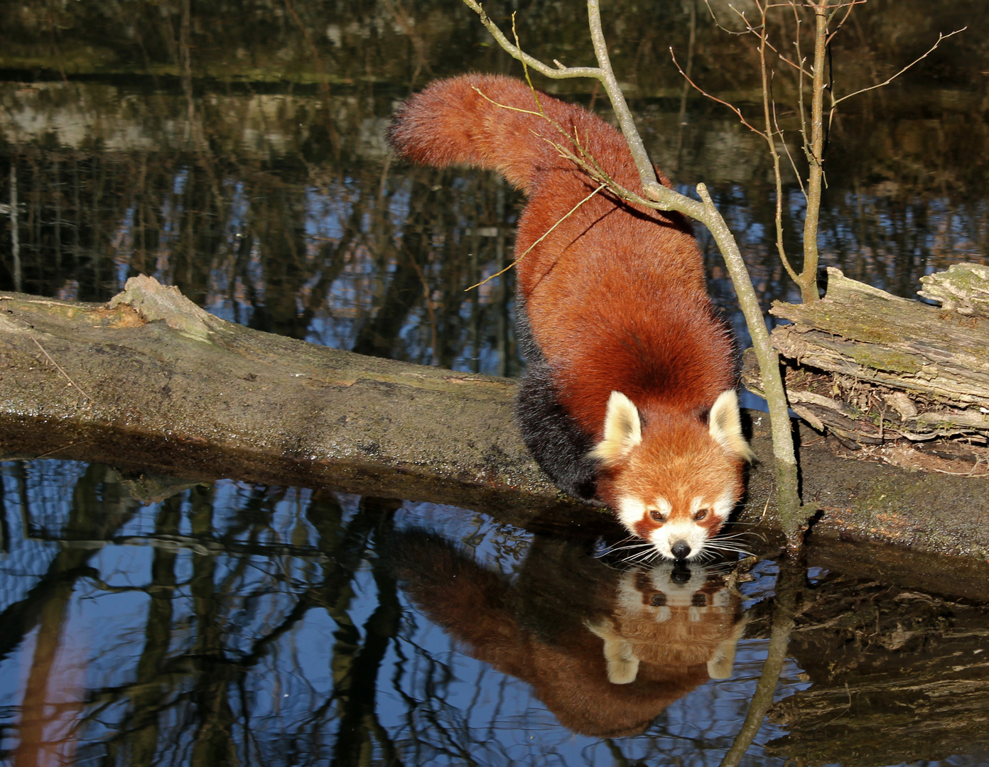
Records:
<instances>
[{"instance_id":1,"label":"foreground water reflecting blue sky and trees, without panda's reflection","mask_svg":"<svg viewBox=\"0 0 989 767\"><path fill-rule=\"evenodd\" d=\"M364 712L381 727L374 739L390 741L405 764L463 764L470 754L486 765L592 765L619 752L716 764L762 666L764 639L742 639L730 679L701 684L642 734L603 741L557 724L528 684L459 651L401 591L401 618L392 616L392 633L382 634L383 606L396 596L387 564L395 554L378 541L386 528L400 539L427 530L509 579L531 545L524 531L425 503L362 528L360 499L331 496L323 503L338 504L338 529L354 536L337 542L334 560L307 518L309 490L220 482L139 505L112 469L64 462L5 464L3 484L9 551L0 559L0 613L12 620L0 661L0 725L8 759L31 724L18 716L31 711L29 687L45 700L34 712L39 731L45 740L68 736L58 747L74 763L135 763L151 738L155 763L198 764L196 754L220 748L204 746L202 728L213 726L224 741L215 756L324 764L348 706L370 695L348 690L352 674L376 690ZM29 618L18 607L32 599L40 614ZM376 649L376 638L387 646ZM362 653L366 660L376 652L373 667L361 667ZM807 686L799 673L787 664L777 696ZM759 742L781 733L766 724ZM748 763L784 761L760 752L754 747ZM22 763L18 753L12 763Z\"/></svg>"}]
</instances>

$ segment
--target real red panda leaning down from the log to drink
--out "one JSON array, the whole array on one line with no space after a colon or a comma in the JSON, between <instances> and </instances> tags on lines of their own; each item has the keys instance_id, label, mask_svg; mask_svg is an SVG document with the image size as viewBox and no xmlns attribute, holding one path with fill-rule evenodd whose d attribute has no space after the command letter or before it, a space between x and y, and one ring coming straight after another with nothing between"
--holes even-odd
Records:
<instances>
[{"instance_id":1,"label":"real red panda leaning down from the log to drink","mask_svg":"<svg viewBox=\"0 0 989 767\"><path fill-rule=\"evenodd\" d=\"M751 456L732 340L682 216L605 191L568 215L597 184L558 150L566 136L642 193L617 130L545 94L537 104L519 80L435 82L390 134L408 159L494 168L528 196L515 244L526 445L561 489L603 501L660 554L692 559L738 503Z\"/></svg>"}]
</instances>

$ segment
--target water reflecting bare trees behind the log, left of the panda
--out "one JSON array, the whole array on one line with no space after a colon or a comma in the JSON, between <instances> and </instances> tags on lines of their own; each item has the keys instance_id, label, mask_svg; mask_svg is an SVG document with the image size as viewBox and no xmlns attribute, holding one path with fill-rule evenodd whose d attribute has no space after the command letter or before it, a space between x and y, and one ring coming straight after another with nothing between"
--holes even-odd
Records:
<instances>
[{"instance_id":1,"label":"water reflecting bare trees behind the log, left of the panda","mask_svg":"<svg viewBox=\"0 0 989 767\"><path fill-rule=\"evenodd\" d=\"M216 130L211 110L198 106L195 119ZM323 154L314 139L306 150ZM509 289L464 293L496 270L512 228L494 177L417 170L406 181L344 148L327 169L249 153L26 147L14 165L28 213L16 227L23 288L101 299L152 273L259 329L416 362L517 369ZM15 287L3 277L0 288Z\"/></svg>"}]
</instances>

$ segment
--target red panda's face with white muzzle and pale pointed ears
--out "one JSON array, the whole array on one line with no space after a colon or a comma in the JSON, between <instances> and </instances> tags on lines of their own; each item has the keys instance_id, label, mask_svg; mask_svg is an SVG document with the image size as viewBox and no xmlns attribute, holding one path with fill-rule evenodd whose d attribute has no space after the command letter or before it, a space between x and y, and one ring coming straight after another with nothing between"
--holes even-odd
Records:
<instances>
[{"instance_id":1,"label":"red panda's face with white muzzle and pale pointed ears","mask_svg":"<svg viewBox=\"0 0 989 767\"><path fill-rule=\"evenodd\" d=\"M751 451L734 391L718 397L707 423L683 416L646 433L631 400L612 392L591 455L611 469L603 499L628 531L664 557L695 559L739 502Z\"/></svg>"}]
</instances>

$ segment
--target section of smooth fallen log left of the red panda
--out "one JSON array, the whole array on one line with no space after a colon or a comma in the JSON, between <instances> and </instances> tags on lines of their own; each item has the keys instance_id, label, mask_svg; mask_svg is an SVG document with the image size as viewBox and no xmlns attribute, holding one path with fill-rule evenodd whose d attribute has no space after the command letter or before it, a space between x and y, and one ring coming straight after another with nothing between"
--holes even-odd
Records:
<instances>
[{"instance_id":1,"label":"section of smooth fallen log left of the red panda","mask_svg":"<svg viewBox=\"0 0 989 767\"><path fill-rule=\"evenodd\" d=\"M105 305L0 294L0 338L7 453L481 507L569 503L516 437L508 380L260 333L143 277Z\"/></svg>"}]
</instances>

